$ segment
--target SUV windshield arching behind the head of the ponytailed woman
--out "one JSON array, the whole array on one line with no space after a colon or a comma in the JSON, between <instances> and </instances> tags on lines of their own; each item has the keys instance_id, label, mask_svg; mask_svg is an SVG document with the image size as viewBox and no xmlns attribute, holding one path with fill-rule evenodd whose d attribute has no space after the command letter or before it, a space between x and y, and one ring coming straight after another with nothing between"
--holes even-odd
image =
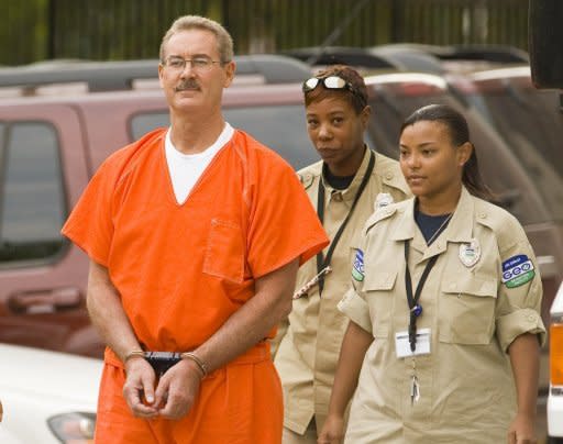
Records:
<instances>
[{"instance_id":1,"label":"SUV windshield arching behind the head of the ponytailed woman","mask_svg":"<svg viewBox=\"0 0 563 444\"><path fill-rule=\"evenodd\" d=\"M472 142L477 151L479 169L498 202L523 224L551 218L538 189L508 146L475 110L463 104L446 90L413 93L404 87L379 87L371 99L369 133L378 152L398 158L398 137L402 121L416 109L430 103L444 103L467 119Z\"/></svg>"}]
</instances>

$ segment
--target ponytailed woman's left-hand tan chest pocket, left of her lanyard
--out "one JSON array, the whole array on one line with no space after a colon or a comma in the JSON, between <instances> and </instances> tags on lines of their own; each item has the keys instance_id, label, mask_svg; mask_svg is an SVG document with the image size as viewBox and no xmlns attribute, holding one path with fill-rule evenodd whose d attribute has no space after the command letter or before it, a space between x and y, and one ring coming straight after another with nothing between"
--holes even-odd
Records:
<instances>
[{"instance_id":1,"label":"ponytailed woman's left-hand tan chest pocket, left of her lanyard","mask_svg":"<svg viewBox=\"0 0 563 444\"><path fill-rule=\"evenodd\" d=\"M366 273L363 291L369 307L374 337L387 337L395 311L397 271Z\"/></svg>"}]
</instances>

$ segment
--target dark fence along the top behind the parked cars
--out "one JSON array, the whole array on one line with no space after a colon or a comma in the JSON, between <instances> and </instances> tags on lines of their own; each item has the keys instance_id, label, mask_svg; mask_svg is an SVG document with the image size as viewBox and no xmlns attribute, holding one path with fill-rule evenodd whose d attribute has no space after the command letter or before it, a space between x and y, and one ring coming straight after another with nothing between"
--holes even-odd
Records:
<instances>
[{"instance_id":1,"label":"dark fence along the top behind the parked cars","mask_svg":"<svg viewBox=\"0 0 563 444\"><path fill-rule=\"evenodd\" d=\"M528 0L1 0L0 64L155 57L175 18L222 22L238 54L395 42L527 49Z\"/></svg>"}]
</instances>

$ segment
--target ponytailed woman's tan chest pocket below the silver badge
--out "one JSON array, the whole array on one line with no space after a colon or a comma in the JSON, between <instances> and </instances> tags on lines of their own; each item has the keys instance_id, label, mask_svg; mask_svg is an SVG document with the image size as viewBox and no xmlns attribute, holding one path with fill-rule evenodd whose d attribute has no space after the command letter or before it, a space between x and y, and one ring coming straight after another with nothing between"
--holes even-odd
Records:
<instances>
[{"instance_id":1,"label":"ponytailed woman's tan chest pocket below the silver badge","mask_svg":"<svg viewBox=\"0 0 563 444\"><path fill-rule=\"evenodd\" d=\"M497 281L471 274L442 281L438 337L455 344L489 344L495 332Z\"/></svg>"}]
</instances>

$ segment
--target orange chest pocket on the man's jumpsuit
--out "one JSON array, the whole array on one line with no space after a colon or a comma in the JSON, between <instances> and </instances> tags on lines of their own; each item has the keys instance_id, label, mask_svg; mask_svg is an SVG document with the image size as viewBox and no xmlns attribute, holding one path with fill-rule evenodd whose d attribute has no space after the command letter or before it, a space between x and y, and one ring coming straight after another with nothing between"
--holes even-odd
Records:
<instances>
[{"instance_id":1,"label":"orange chest pocket on the man's jumpsuit","mask_svg":"<svg viewBox=\"0 0 563 444\"><path fill-rule=\"evenodd\" d=\"M241 284L244 278L244 241L239 224L212 219L203 273Z\"/></svg>"}]
</instances>

